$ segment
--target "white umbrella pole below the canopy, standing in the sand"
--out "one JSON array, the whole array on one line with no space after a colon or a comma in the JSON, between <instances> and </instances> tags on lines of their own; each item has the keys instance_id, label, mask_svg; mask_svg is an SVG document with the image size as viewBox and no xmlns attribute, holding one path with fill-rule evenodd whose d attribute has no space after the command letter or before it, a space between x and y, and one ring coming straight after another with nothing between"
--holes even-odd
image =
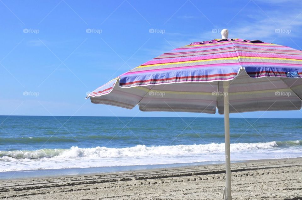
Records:
<instances>
[{"instance_id":1,"label":"white umbrella pole below the canopy, standing in the sand","mask_svg":"<svg viewBox=\"0 0 302 200\"><path fill-rule=\"evenodd\" d=\"M232 200L231 195L231 157L230 157L230 117L229 117L229 81L223 81L224 101L224 137L226 153L226 188L225 200Z\"/></svg>"}]
</instances>

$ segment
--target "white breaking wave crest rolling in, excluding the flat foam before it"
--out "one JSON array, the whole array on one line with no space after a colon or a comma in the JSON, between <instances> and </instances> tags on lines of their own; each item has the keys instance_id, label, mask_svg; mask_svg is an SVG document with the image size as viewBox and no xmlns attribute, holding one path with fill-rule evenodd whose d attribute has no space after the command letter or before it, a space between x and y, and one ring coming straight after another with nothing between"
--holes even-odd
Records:
<instances>
[{"instance_id":1,"label":"white breaking wave crest rolling in, excluding the flat foam before it","mask_svg":"<svg viewBox=\"0 0 302 200\"><path fill-rule=\"evenodd\" d=\"M248 149L269 149L280 145L301 145L302 141L266 142L266 143L232 143L231 151ZM129 156L152 156L152 155L188 155L224 152L224 143L193 144L193 145L171 145L171 146L151 146L137 145L127 148L79 148L70 149L38 149L38 150L13 150L0 151L0 158L4 156L12 158L102 158L102 157L129 157Z\"/></svg>"}]
</instances>

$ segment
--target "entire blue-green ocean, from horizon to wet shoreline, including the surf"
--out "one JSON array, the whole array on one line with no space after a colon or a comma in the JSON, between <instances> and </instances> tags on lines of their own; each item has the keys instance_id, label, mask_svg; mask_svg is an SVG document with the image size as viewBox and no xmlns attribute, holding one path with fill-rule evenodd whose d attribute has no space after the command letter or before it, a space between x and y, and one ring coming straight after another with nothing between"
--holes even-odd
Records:
<instances>
[{"instance_id":1,"label":"entire blue-green ocean, from horizon to wet shoreline, including the surf","mask_svg":"<svg viewBox=\"0 0 302 200\"><path fill-rule=\"evenodd\" d=\"M231 160L302 157L302 119L230 118ZM0 116L0 178L224 163L224 119Z\"/></svg>"}]
</instances>

